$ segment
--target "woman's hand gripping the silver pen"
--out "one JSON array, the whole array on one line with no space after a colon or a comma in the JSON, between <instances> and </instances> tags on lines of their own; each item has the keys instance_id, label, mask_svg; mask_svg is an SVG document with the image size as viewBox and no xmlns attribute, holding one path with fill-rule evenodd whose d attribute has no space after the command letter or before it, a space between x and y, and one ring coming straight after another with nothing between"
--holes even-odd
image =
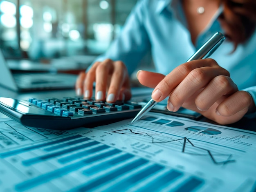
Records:
<instances>
[{"instance_id":1,"label":"woman's hand gripping the silver pen","mask_svg":"<svg viewBox=\"0 0 256 192\"><path fill-rule=\"evenodd\" d=\"M175 112L182 106L219 124L238 121L254 106L251 95L239 91L229 72L212 59L184 63L166 76L139 71L137 78L142 85L155 88L154 101L169 97L168 110Z\"/></svg>"}]
</instances>

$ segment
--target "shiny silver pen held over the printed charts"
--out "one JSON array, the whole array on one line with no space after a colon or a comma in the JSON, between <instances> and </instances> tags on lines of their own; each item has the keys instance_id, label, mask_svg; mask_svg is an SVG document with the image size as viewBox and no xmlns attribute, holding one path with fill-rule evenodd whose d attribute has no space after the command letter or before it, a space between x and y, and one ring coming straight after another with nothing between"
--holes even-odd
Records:
<instances>
[{"instance_id":1,"label":"shiny silver pen held over the printed charts","mask_svg":"<svg viewBox=\"0 0 256 192\"><path fill-rule=\"evenodd\" d=\"M216 32L186 62L190 62L192 60L205 59L205 58L209 57L220 46L220 44L222 44L222 42L224 40L225 40L225 36L220 32ZM135 121L137 121L141 117L143 117L156 104L157 104L157 102L155 102L153 99L150 99L150 101L139 111L139 113L136 115L136 117L134 119L132 119L132 121L130 122L130 125L132 125Z\"/></svg>"}]
</instances>

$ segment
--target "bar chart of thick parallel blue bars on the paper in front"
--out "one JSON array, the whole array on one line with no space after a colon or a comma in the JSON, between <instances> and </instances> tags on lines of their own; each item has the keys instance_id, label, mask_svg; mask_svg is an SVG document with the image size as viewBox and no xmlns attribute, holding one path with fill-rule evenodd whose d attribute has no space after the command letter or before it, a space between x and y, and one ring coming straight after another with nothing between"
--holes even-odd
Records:
<instances>
[{"instance_id":1,"label":"bar chart of thick parallel blue bars on the paper in front","mask_svg":"<svg viewBox=\"0 0 256 192\"><path fill-rule=\"evenodd\" d=\"M106 132L88 136L73 133L1 152L1 168L5 166L20 178L10 180L1 175L0 188L18 192L128 189L182 192L207 186L204 178L118 149L115 142L104 144L101 140L106 138Z\"/></svg>"}]
</instances>

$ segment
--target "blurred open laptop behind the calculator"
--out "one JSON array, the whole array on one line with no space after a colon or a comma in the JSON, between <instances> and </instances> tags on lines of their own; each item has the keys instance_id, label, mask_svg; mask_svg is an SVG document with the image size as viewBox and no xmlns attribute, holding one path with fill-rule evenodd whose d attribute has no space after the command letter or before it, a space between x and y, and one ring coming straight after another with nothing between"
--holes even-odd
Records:
<instances>
[{"instance_id":1,"label":"blurred open laptop behind the calculator","mask_svg":"<svg viewBox=\"0 0 256 192\"><path fill-rule=\"evenodd\" d=\"M18 92L75 87L77 75L67 73L12 73L0 50L0 85Z\"/></svg>"}]
</instances>

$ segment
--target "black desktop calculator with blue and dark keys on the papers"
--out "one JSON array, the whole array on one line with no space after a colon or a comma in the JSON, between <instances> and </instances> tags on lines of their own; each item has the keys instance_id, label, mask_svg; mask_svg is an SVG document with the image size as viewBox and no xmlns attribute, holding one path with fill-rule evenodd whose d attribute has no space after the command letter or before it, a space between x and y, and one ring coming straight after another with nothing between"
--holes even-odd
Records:
<instances>
[{"instance_id":1,"label":"black desktop calculator with blue and dark keys on the papers","mask_svg":"<svg viewBox=\"0 0 256 192\"><path fill-rule=\"evenodd\" d=\"M19 100L0 97L0 112L24 126L67 130L94 124L133 118L141 110L137 102L107 103L83 97L49 97L43 100Z\"/></svg>"}]
</instances>

